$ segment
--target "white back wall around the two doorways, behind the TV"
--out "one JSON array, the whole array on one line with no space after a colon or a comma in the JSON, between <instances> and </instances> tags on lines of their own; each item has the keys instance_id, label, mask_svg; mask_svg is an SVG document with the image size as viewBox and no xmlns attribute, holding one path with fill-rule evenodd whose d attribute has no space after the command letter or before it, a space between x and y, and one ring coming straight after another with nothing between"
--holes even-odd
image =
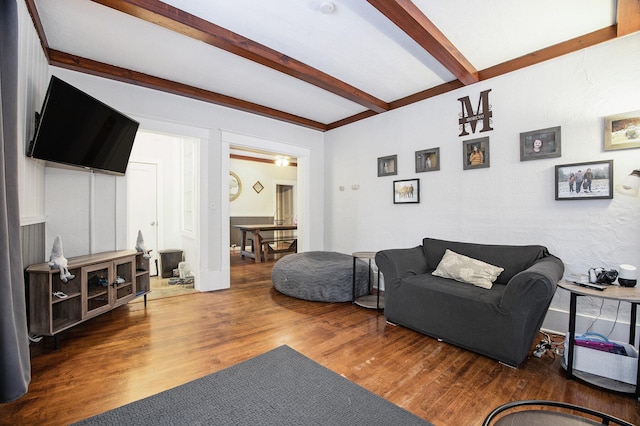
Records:
<instances>
[{"instance_id":1,"label":"white back wall around the two doorways, behind the TV","mask_svg":"<svg viewBox=\"0 0 640 426\"><path fill-rule=\"evenodd\" d=\"M310 191L316 194L323 193L324 147L323 135L318 131L65 69L52 67L52 71L53 74L80 90L139 120L141 128L198 137L203 140L199 159L201 170L199 182L201 244L199 247L200 264L197 269L201 290L226 288L229 285L228 245L223 246L222 244L225 239L228 242L229 235L229 221L226 216L228 207L225 207L229 203L228 174L221 172L225 169L228 170L229 161L228 152L224 151L225 144L221 142L223 130L229 134L233 132L236 135L248 135L253 139L275 141L274 143L280 146L298 146L308 150L310 153ZM103 247L109 247L110 250L126 248L126 226L119 222L118 217L107 217L107 222L100 223L100 226L96 228L98 233L91 238L93 243L88 241L89 236L77 235L77 227L64 219L64 211L71 209L82 216L79 220L81 224L93 220L91 210L86 202L90 197L89 194L84 192L82 186L75 188L76 182L85 180L83 173L86 172L64 172L66 173L60 176L57 171L48 172L51 175L56 175L56 188L62 188L61 191L69 191L74 188L71 199L64 206L59 202L49 203L45 207L48 215L48 238L49 235L61 235L67 256L84 251L87 247L90 248L91 244L100 249ZM126 179L126 177L99 177L100 181L105 179L118 181ZM50 186L49 183L47 185ZM100 200L101 205L115 204L119 206L118 211L126 212L126 190L110 189L122 185L119 183L100 184L99 188L106 192L98 192L94 196ZM112 196L116 198L111 199ZM48 200L51 200L51 197ZM322 206L321 198L310 200L309 216L306 218L309 221L309 232L304 235L305 244L310 249L321 250L323 248L324 210ZM50 231L52 229L55 229L55 235L53 231ZM85 232L84 229L82 232ZM73 237L70 237L71 235ZM194 265L191 266L195 270Z\"/></svg>"}]
</instances>

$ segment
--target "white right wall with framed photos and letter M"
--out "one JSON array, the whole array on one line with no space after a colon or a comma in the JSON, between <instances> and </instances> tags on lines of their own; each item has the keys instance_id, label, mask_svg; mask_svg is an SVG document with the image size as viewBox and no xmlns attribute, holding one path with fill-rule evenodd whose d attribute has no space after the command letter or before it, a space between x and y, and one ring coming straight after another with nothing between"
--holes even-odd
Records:
<instances>
[{"instance_id":1,"label":"white right wall with framed photos and letter M","mask_svg":"<svg viewBox=\"0 0 640 426\"><path fill-rule=\"evenodd\" d=\"M604 117L640 110L639 58L636 33L327 132L326 249L412 247L429 236L545 245L568 272L639 265L640 199L554 199L557 164L613 159L616 183L640 167L640 149L603 148ZM489 89L494 130L459 137L458 98L476 108ZM519 134L553 126L562 127L562 157L521 162ZM463 170L462 141L482 136L490 137L490 168ZM441 170L415 173L415 151L432 147L440 147ZM393 154L398 175L377 177L376 159ZM420 179L420 204L394 205L392 182L408 178ZM588 299L579 311L596 316L599 308L600 299ZM616 308L605 304L603 316L615 318ZM628 324L629 307L621 309ZM545 326L566 330L566 311L568 294L558 290ZM599 324L594 331L612 325Z\"/></svg>"}]
</instances>

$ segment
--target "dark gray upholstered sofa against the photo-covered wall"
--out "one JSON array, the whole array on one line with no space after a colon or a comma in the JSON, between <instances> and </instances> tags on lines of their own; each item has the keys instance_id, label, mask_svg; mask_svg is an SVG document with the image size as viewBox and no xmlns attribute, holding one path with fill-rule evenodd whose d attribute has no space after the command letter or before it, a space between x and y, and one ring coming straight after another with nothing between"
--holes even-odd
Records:
<instances>
[{"instance_id":1,"label":"dark gray upholstered sofa against the photo-covered wall","mask_svg":"<svg viewBox=\"0 0 640 426\"><path fill-rule=\"evenodd\" d=\"M504 268L491 289L432 275L445 251ZM517 367L542 325L564 265L543 246L471 244L425 238L382 250L385 316L445 342Z\"/></svg>"}]
</instances>

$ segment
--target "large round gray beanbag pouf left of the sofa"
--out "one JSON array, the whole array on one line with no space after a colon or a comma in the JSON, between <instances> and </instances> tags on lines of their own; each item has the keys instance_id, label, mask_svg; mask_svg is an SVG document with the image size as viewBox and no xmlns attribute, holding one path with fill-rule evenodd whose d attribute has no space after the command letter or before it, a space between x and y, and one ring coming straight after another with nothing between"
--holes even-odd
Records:
<instances>
[{"instance_id":1,"label":"large round gray beanbag pouf left of the sofa","mask_svg":"<svg viewBox=\"0 0 640 426\"><path fill-rule=\"evenodd\" d=\"M311 251L279 259L271 271L280 293L316 302L350 302L353 298L353 257ZM356 260L356 297L369 293L369 264Z\"/></svg>"}]
</instances>

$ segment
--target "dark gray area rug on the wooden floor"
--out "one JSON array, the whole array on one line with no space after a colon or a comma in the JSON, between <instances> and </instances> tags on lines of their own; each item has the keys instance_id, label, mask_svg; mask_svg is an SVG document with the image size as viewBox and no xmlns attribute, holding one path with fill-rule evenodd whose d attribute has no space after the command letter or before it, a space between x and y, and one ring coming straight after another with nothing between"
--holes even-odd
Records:
<instances>
[{"instance_id":1,"label":"dark gray area rug on the wooden floor","mask_svg":"<svg viewBox=\"0 0 640 426\"><path fill-rule=\"evenodd\" d=\"M429 425L288 346L77 425Z\"/></svg>"}]
</instances>

